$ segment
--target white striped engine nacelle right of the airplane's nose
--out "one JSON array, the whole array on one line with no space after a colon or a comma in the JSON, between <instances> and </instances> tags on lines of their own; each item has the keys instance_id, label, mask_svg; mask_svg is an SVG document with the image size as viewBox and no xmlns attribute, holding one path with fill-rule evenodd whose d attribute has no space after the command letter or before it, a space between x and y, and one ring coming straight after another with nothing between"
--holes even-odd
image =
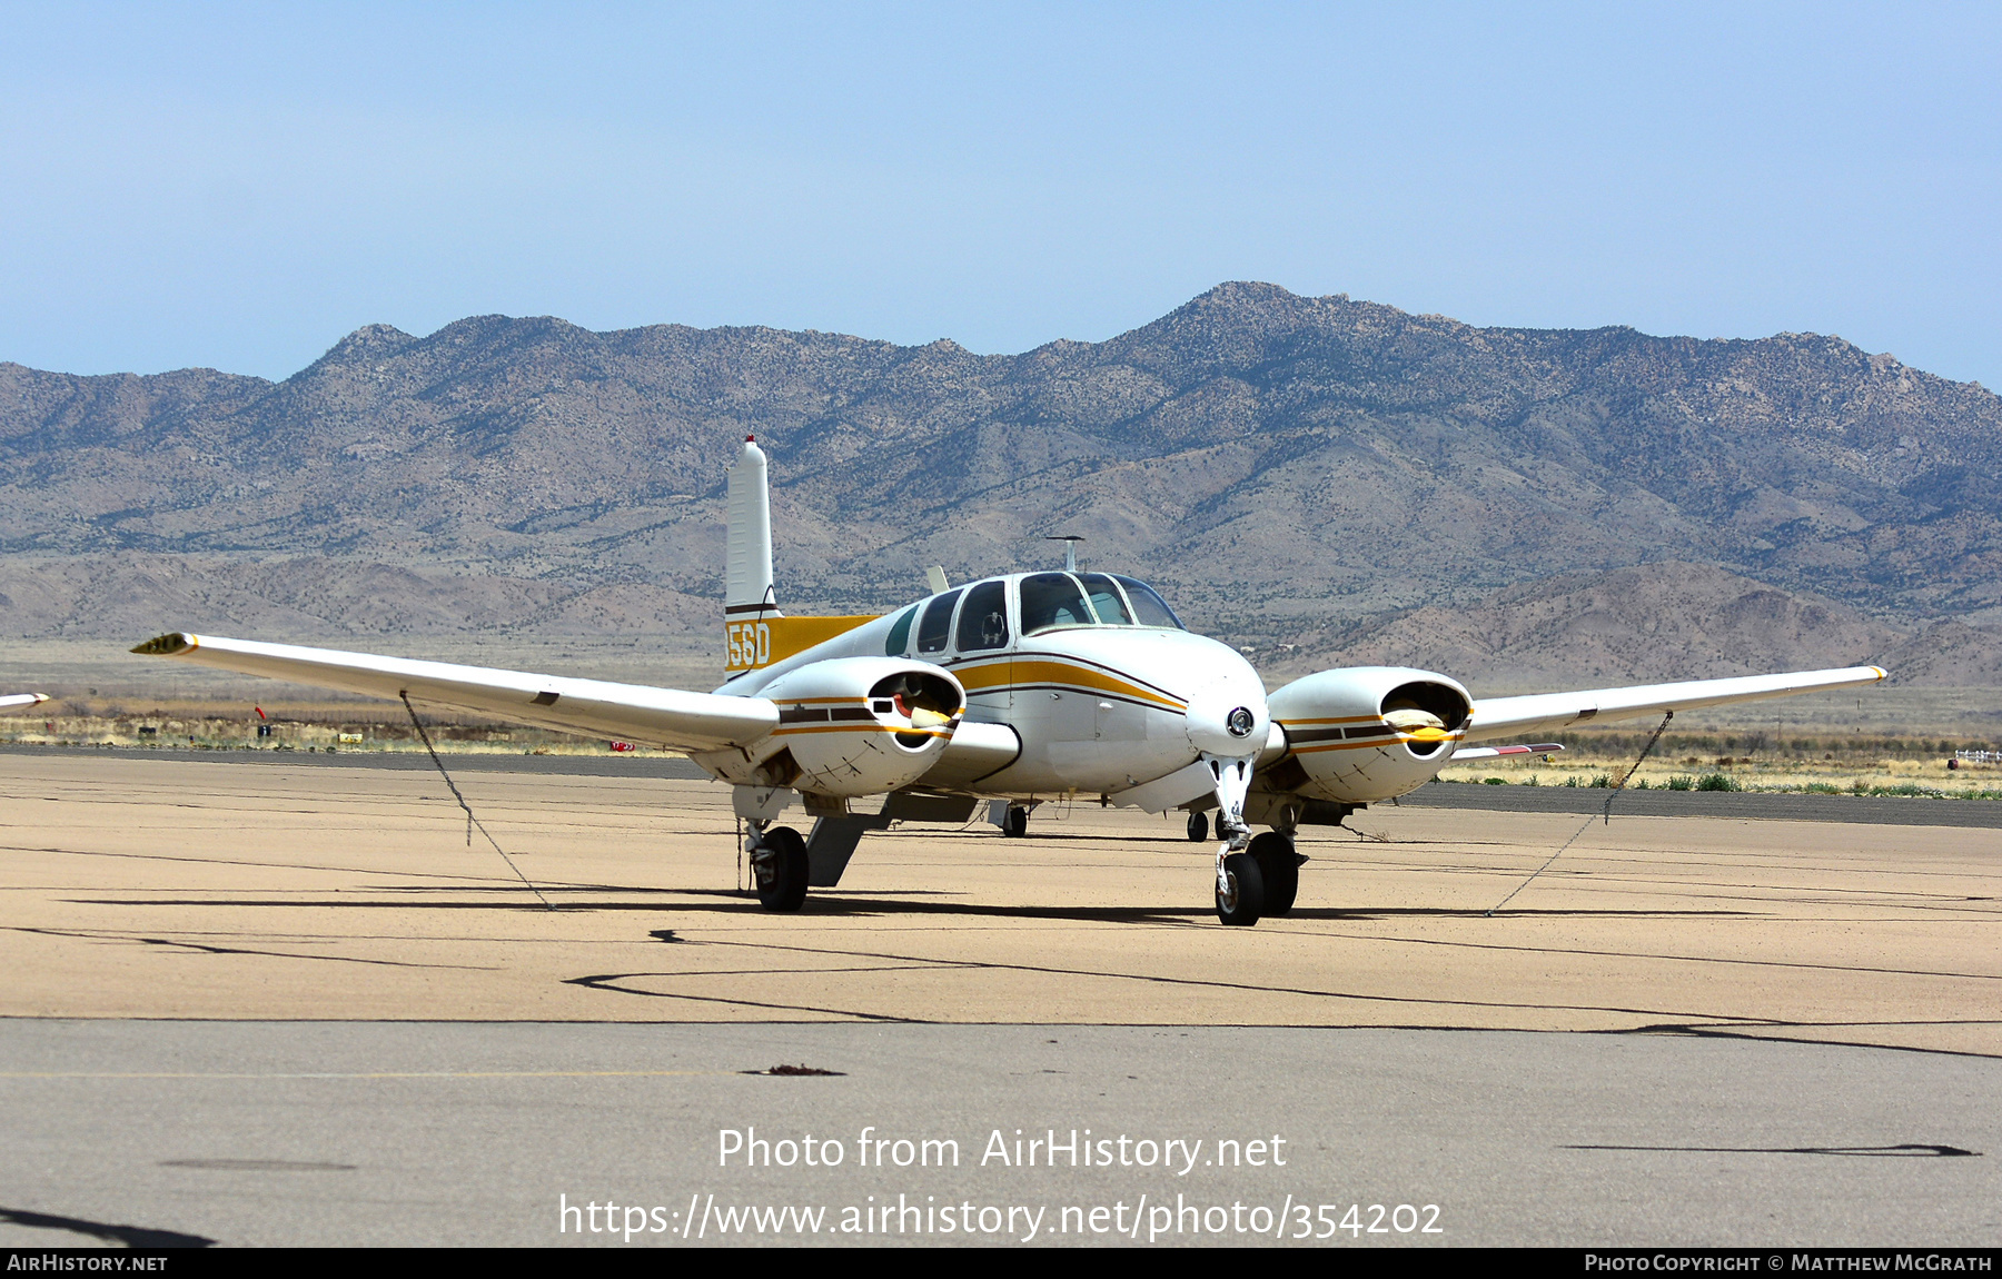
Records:
<instances>
[{"instance_id":1,"label":"white striped engine nacelle right of the airplane's nose","mask_svg":"<svg viewBox=\"0 0 2002 1279\"><path fill-rule=\"evenodd\" d=\"M1415 791L1453 759L1473 697L1409 667L1321 671L1265 699L1287 757L1265 787L1305 799L1373 803Z\"/></svg>"}]
</instances>

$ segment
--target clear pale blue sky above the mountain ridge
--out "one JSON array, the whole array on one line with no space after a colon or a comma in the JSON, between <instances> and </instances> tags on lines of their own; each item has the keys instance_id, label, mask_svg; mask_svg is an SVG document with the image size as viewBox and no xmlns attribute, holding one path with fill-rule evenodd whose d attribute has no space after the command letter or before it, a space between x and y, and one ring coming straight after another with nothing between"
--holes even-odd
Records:
<instances>
[{"instance_id":1,"label":"clear pale blue sky above the mountain ridge","mask_svg":"<svg viewBox=\"0 0 2002 1279\"><path fill-rule=\"evenodd\" d=\"M1219 280L2002 384L2002 8L36 6L0 360L482 312L1097 340Z\"/></svg>"}]
</instances>

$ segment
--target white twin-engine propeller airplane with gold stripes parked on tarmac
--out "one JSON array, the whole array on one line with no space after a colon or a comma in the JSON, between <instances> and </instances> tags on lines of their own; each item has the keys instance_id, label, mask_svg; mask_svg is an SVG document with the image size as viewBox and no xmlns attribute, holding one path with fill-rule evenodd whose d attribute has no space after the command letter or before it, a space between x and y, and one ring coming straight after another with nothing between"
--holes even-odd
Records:
<instances>
[{"instance_id":1,"label":"white twin-engine propeller airplane with gold stripes parked on tarmac","mask_svg":"<svg viewBox=\"0 0 2002 1279\"><path fill-rule=\"evenodd\" d=\"M1073 546L1075 550L1075 546ZM1880 667L1477 701L1405 667L1321 671L1265 693L1227 645L1191 634L1145 582L1011 572L947 586L887 616L785 616L771 580L765 452L729 472L727 679L715 693L418 663L196 634L134 649L204 667L438 703L523 725L685 753L731 783L759 901L797 911L831 889L865 831L965 823L981 801L1007 835L1053 799L1189 811L1215 855L1217 919L1285 915L1293 833L1339 825L1425 785L1451 759L1554 751L1467 747L1584 721L1846 689ZM851 813L885 795L881 813ZM799 799L811 833L779 815ZM1269 827L1255 835L1253 825Z\"/></svg>"}]
</instances>

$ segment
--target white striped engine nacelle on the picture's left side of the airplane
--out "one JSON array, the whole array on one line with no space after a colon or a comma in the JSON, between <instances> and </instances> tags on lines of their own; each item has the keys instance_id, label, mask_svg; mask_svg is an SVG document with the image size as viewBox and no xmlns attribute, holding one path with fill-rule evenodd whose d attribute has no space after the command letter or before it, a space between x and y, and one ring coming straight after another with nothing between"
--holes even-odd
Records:
<instances>
[{"instance_id":1,"label":"white striped engine nacelle on the picture's left side of the airplane","mask_svg":"<svg viewBox=\"0 0 2002 1279\"><path fill-rule=\"evenodd\" d=\"M895 657L809 663L759 695L777 703L779 727L751 761L719 773L839 799L915 783L939 763L967 705L949 673Z\"/></svg>"}]
</instances>

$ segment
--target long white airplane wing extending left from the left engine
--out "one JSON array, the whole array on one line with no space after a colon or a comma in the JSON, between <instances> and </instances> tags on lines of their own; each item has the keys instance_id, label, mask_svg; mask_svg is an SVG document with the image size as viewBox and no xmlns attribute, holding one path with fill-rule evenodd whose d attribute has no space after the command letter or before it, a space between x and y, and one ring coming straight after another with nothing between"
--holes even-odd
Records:
<instances>
[{"instance_id":1,"label":"long white airplane wing extending left from the left engine","mask_svg":"<svg viewBox=\"0 0 2002 1279\"><path fill-rule=\"evenodd\" d=\"M683 693L214 634L162 634L132 653L388 701L408 693L412 703L476 711L561 733L621 737L667 751L743 747L779 727L779 709L763 697Z\"/></svg>"}]
</instances>

